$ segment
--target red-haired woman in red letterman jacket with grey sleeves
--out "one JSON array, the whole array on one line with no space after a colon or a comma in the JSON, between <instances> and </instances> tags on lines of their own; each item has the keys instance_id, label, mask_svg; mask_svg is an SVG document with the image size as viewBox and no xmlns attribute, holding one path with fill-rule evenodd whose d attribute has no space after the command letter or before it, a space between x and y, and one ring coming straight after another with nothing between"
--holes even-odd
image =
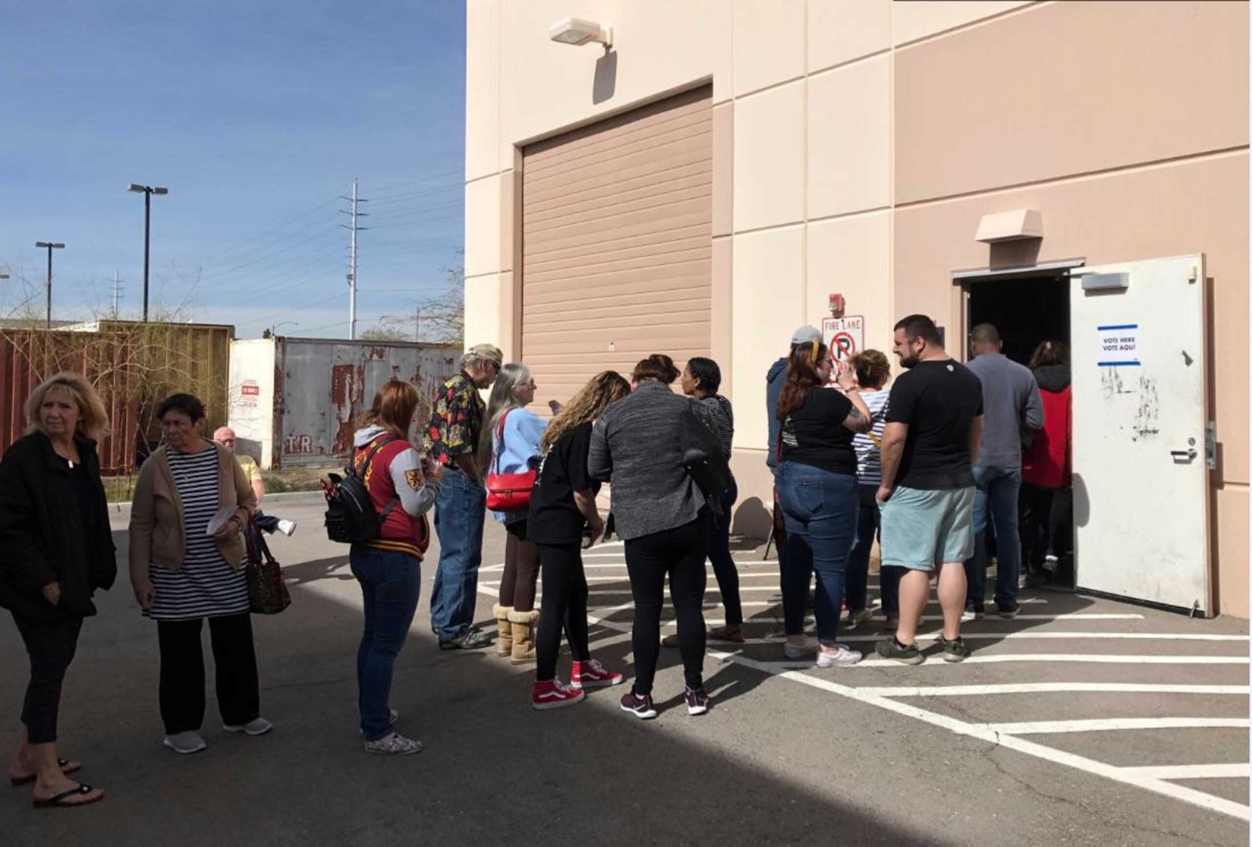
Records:
<instances>
[{"instance_id":1,"label":"red-haired woman in red letterman jacket with grey sleeves","mask_svg":"<svg viewBox=\"0 0 1252 847\"><path fill-rule=\"evenodd\" d=\"M358 707L366 752L409 756L422 743L392 728L392 668L404 646L422 584L422 553L431 529L426 512L439 493L438 465L418 459L407 440L417 389L392 379L378 389L353 438L353 467L381 518L378 538L353 544L352 573L361 583L366 628L357 649Z\"/></svg>"}]
</instances>

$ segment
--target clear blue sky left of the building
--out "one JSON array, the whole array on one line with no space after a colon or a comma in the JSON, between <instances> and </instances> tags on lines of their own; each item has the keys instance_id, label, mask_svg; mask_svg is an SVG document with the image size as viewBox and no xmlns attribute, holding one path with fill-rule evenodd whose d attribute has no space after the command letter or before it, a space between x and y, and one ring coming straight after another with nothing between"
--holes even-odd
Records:
<instances>
[{"instance_id":1,"label":"clear blue sky left of the building","mask_svg":"<svg viewBox=\"0 0 1252 847\"><path fill-rule=\"evenodd\" d=\"M0 317L54 256L55 318L143 290L183 319L344 337L353 178L358 332L438 294L459 263L464 124L461 0L0 0ZM35 285L38 288L30 288Z\"/></svg>"}]
</instances>

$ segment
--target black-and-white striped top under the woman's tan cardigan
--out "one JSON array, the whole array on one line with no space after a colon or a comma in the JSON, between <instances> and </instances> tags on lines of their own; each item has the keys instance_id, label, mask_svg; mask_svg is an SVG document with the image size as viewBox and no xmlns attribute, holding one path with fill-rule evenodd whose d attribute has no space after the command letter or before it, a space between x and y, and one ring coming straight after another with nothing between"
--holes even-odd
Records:
<instances>
[{"instance_id":1,"label":"black-and-white striped top under the woman's tan cardigan","mask_svg":"<svg viewBox=\"0 0 1252 847\"><path fill-rule=\"evenodd\" d=\"M218 512L218 452L167 450L165 459L183 499L187 553L180 571L151 566L155 597L145 614L154 621L194 621L247 612L248 576L244 568L233 571L222 558L213 535L205 534Z\"/></svg>"}]
</instances>

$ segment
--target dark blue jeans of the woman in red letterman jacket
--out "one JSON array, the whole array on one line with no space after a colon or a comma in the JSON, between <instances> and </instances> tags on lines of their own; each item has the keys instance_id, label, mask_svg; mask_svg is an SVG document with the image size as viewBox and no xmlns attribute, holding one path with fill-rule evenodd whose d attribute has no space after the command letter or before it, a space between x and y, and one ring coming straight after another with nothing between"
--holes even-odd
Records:
<instances>
[{"instance_id":1,"label":"dark blue jeans of the woman in red letterman jacket","mask_svg":"<svg viewBox=\"0 0 1252 847\"><path fill-rule=\"evenodd\" d=\"M416 555L357 544L348 558L366 606L366 629L357 648L361 733L366 741L377 741L391 732L392 669L417 612L422 563Z\"/></svg>"}]
</instances>

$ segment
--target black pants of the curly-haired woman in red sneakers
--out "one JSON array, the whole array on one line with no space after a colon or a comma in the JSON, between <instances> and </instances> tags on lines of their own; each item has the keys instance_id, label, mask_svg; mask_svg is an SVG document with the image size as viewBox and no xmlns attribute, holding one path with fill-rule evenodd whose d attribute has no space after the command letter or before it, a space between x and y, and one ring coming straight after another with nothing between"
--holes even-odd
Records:
<instances>
[{"instance_id":1,"label":"black pants of the curly-haired woman in red sneakers","mask_svg":"<svg viewBox=\"0 0 1252 847\"><path fill-rule=\"evenodd\" d=\"M582 571L582 549L577 543L537 547L543 569L543 599L540 604L540 631L535 639L535 678L547 682L556 677L562 623L573 659L591 659L587 647L587 577Z\"/></svg>"}]
</instances>

